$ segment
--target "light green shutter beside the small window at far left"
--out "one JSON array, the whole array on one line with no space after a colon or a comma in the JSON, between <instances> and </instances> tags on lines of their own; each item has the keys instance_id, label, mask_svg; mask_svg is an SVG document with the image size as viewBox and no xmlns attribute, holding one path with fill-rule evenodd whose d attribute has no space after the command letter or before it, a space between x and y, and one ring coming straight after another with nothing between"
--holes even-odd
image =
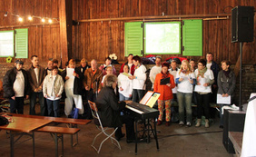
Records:
<instances>
[{"instance_id":1,"label":"light green shutter beside the small window at far left","mask_svg":"<svg viewBox=\"0 0 256 157\"><path fill-rule=\"evenodd\" d=\"M16 29L15 32L15 58L27 58L28 29Z\"/></svg>"}]
</instances>

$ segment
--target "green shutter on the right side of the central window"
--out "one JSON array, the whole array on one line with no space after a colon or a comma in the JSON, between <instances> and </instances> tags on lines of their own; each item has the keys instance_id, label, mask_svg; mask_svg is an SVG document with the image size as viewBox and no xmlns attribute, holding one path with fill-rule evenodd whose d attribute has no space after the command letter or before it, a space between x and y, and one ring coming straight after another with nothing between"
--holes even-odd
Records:
<instances>
[{"instance_id":1,"label":"green shutter on the right side of the central window","mask_svg":"<svg viewBox=\"0 0 256 157\"><path fill-rule=\"evenodd\" d=\"M202 20L183 20L182 55L202 56Z\"/></svg>"}]
</instances>

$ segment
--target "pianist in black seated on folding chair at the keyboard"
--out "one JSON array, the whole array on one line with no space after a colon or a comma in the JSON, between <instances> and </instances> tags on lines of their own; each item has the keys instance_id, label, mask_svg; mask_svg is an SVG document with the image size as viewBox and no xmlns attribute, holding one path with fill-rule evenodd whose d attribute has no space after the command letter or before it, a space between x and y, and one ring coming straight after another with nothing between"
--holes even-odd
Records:
<instances>
[{"instance_id":1,"label":"pianist in black seated on folding chair at the keyboard","mask_svg":"<svg viewBox=\"0 0 256 157\"><path fill-rule=\"evenodd\" d=\"M98 94L96 106L104 127L118 127L115 132L116 140L120 141L124 134L122 133L122 125L125 123L126 142L135 142L134 120L130 115L121 115L121 111L125 108L125 102L118 102L114 93L117 85L117 77L113 74L106 75L103 81L103 89ZM131 103L131 101L127 102Z\"/></svg>"}]
</instances>

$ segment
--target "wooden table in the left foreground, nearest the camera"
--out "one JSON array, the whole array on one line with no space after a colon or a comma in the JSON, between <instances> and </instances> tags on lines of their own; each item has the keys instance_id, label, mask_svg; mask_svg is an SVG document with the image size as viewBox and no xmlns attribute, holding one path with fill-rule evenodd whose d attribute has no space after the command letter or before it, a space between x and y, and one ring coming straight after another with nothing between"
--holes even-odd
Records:
<instances>
[{"instance_id":1,"label":"wooden table in the left foreground, nearest the camera","mask_svg":"<svg viewBox=\"0 0 256 157\"><path fill-rule=\"evenodd\" d=\"M11 115L11 114L9 114ZM19 117L15 115L7 116L13 119L12 123L0 126L0 130L10 131L10 153L11 157L15 155L15 142L17 142L21 136L29 135L33 139L33 156L34 156L34 131L48 123L52 123L52 120L47 119L34 119L29 117ZM19 135L16 141L15 135Z\"/></svg>"}]
</instances>

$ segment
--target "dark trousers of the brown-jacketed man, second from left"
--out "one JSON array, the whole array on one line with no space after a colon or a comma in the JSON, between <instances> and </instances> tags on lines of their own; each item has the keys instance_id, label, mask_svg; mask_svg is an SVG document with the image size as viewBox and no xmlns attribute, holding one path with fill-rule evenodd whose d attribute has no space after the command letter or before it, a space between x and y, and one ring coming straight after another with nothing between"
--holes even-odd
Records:
<instances>
[{"instance_id":1,"label":"dark trousers of the brown-jacketed man, second from left","mask_svg":"<svg viewBox=\"0 0 256 157\"><path fill-rule=\"evenodd\" d=\"M45 105L44 105L44 95L43 95L43 92L40 92L40 93L32 92L30 94L30 111L29 111L29 114L30 115L35 115L34 106L35 106L35 103L36 103L36 97L38 97L38 99L39 99L41 115L44 116Z\"/></svg>"}]
</instances>

